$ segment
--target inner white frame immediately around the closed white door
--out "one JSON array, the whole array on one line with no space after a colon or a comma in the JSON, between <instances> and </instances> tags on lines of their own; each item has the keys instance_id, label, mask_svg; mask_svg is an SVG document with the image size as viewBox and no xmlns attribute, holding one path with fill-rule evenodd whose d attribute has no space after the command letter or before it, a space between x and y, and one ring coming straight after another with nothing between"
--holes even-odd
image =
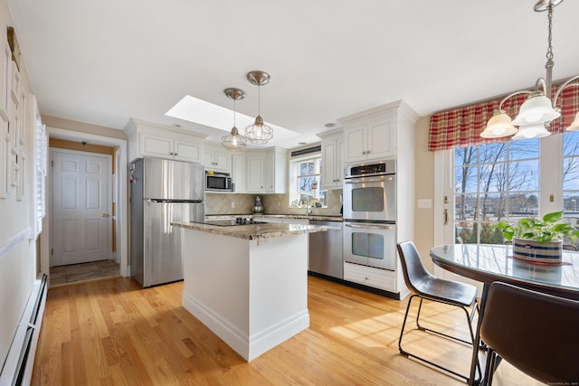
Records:
<instances>
[{"instance_id":1,"label":"inner white frame immediately around the closed white door","mask_svg":"<svg viewBox=\"0 0 579 386\"><path fill-rule=\"evenodd\" d=\"M106 154L102 154L102 153L93 153L93 152L89 152L89 151L81 151L81 150L72 150L72 149L66 149L66 148L62 148L62 147L50 147L49 146L49 160L51 161L51 175L50 175L50 181L49 181L49 189L51 194L49 195L49 197L51 198L51 201L49 202L49 206L50 207L50 212L53 213L54 212L54 207L53 207L53 189L54 189L54 184L53 184L53 177L54 174L52 174L52 161L53 161L53 155L54 153L66 153L69 155L84 155L84 156L96 156L96 157L100 157L100 158L106 158L107 159L107 184L108 184L108 189L107 189L107 212L108 213L112 213L112 202L113 202L113 190L115 189L115 184L113 183L113 174L112 172L112 155L106 155ZM120 267L120 261L117 258L117 256L115 256L115 253L113 253L112 250L112 237L111 237L111 233L110 231L112 230L112 219L114 216L109 216L107 217L107 259L115 259L119 262L119 267ZM51 222L50 222L50 248L52 249L54 246L54 240L53 240L53 235L54 232L52 231L53 229L53 222L52 222L52 217L51 217ZM49 255L49 262L52 259L52 253Z\"/></svg>"}]
</instances>

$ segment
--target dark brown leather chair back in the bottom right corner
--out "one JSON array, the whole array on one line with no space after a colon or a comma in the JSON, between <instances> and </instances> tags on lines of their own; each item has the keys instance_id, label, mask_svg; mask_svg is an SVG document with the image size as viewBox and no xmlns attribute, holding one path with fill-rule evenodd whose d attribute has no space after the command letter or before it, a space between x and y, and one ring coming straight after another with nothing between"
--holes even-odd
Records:
<instances>
[{"instance_id":1,"label":"dark brown leather chair back in the bottom right corner","mask_svg":"<svg viewBox=\"0 0 579 386\"><path fill-rule=\"evenodd\" d=\"M579 382L579 301L492 283L480 337L488 345L483 384L492 384L498 356L537 381Z\"/></svg>"}]
</instances>

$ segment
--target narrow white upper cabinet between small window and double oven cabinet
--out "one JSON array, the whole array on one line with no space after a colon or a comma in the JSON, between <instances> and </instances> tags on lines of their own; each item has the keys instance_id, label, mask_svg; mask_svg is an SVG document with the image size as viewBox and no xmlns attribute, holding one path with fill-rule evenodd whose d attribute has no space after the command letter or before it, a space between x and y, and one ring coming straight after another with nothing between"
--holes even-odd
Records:
<instances>
[{"instance_id":1,"label":"narrow white upper cabinet between small window and double oven cabinet","mask_svg":"<svg viewBox=\"0 0 579 386\"><path fill-rule=\"evenodd\" d=\"M341 189L344 178L344 134L341 129L319 133L322 144L322 189Z\"/></svg>"}]
</instances>

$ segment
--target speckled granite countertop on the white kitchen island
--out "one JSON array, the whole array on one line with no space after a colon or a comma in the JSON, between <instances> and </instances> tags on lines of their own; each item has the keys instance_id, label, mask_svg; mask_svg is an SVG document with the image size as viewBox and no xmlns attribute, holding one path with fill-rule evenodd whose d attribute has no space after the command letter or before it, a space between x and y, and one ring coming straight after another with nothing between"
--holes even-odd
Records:
<instances>
[{"instance_id":1,"label":"speckled granite countertop on the white kitchen island","mask_svg":"<svg viewBox=\"0 0 579 386\"><path fill-rule=\"evenodd\" d=\"M271 239L328 230L328 227L320 225L282 224L278 222L233 226L208 225L200 222L171 222L171 225L245 240Z\"/></svg>"}]
</instances>

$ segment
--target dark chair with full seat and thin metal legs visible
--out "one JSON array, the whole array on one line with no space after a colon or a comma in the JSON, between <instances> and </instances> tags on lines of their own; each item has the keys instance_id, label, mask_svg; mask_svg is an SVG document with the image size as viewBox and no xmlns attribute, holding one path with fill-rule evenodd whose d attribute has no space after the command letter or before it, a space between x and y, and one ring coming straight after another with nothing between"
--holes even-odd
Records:
<instances>
[{"instance_id":1,"label":"dark chair with full seat and thin metal legs visible","mask_svg":"<svg viewBox=\"0 0 579 386\"><path fill-rule=\"evenodd\" d=\"M476 303L477 288L471 286L470 284L460 283L458 281L453 280L445 280L433 276L430 272L426 270L426 268L424 268L420 254L418 253L418 250L416 249L412 241L404 241L398 243L397 249L398 255L400 256L400 261L402 263L403 276L404 281L406 283L406 287L408 287L413 292L413 295L408 300L408 306L406 306L406 313L404 314L402 330L400 331L400 339L398 340L398 349L400 353L408 357L413 357L422 362L426 362L438 369L441 369L445 372L450 372L451 374L454 374L464 379L465 381L468 381L469 376L460 374L459 372L444 367L439 363L429 361L415 353L407 352L406 350L403 349L402 341L403 341L404 327L406 325L406 319L408 318L410 306L413 302L414 297L418 297L420 298L420 304L418 306L418 314L416 315L416 326L420 331L432 334L439 334L446 338L458 341L461 344L472 345L472 342L474 342L474 334L472 331L472 319L475 315L475 312L478 309ZM470 342L460 339L457 336L452 336L450 334L443 334L441 332L434 331L432 329L425 328L422 325L420 325L420 311L422 309L422 301L425 299L449 306L457 306L462 310L464 310L469 325ZM472 307L471 312L469 312L470 307ZM477 368L480 374L479 363L477 363Z\"/></svg>"}]
</instances>

